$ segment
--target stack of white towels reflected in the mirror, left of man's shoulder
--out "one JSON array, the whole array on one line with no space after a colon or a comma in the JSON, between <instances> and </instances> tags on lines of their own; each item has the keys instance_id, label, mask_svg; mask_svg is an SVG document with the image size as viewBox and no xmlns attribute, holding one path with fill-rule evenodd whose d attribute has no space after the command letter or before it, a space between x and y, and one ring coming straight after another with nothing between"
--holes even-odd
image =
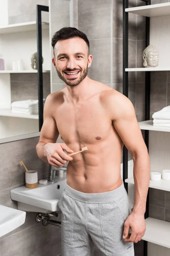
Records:
<instances>
[{"instance_id":1,"label":"stack of white towels reflected in the mirror, left of man's shoulder","mask_svg":"<svg viewBox=\"0 0 170 256\"><path fill-rule=\"evenodd\" d=\"M45 99L43 99L43 105ZM27 99L20 100L11 103L11 112L18 114L38 114L38 100L37 99Z\"/></svg>"}]
</instances>

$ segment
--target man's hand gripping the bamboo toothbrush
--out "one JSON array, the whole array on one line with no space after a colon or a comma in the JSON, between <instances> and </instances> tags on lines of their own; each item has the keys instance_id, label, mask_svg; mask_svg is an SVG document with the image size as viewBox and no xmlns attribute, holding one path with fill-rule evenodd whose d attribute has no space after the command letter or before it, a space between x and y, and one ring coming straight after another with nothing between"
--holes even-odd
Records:
<instances>
[{"instance_id":1,"label":"man's hand gripping the bamboo toothbrush","mask_svg":"<svg viewBox=\"0 0 170 256\"><path fill-rule=\"evenodd\" d=\"M69 157L63 150L68 153L74 152L65 143L46 143L43 152L49 164L55 167L61 167L67 161L73 160L73 157Z\"/></svg>"}]
</instances>

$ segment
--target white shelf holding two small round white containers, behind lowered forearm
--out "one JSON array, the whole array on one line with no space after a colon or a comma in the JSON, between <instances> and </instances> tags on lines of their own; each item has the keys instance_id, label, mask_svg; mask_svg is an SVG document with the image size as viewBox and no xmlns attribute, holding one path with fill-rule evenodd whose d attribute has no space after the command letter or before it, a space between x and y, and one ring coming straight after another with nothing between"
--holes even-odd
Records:
<instances>
[{"instance_id":1,"label":"white shelf holding two small round white containers, behind lowered forearm","mask_svg":"<svg viewBox=\"0 0 170 256\"><path fill-rule=\"evenodd\" d=\"M125 182L134 184L134 179L133 179L133 177L130 177L130 178L125 179ZM158 180L158 181L150 180L149 187L153 188L153 189L170 191L170 180L163 180L163 179Z\"/></svg>"}]
</instances>

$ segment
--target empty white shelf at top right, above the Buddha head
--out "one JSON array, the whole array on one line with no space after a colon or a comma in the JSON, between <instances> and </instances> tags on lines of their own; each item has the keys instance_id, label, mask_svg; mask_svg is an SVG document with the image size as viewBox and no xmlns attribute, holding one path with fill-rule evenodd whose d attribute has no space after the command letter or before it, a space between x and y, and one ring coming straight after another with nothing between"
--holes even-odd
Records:
<instances>
[{"instance_id":1,"label":"empty white shelf at top right, above the Buddha head","mask_svg":"<svg viewBox=\"0 0 170 256\"><path fill-rule=\"evenodd\" d=\"M158 3L147 6L126 8L125 12L134 13L146 17L170 15L170 3Z\"/></svg>"}]
</instances>

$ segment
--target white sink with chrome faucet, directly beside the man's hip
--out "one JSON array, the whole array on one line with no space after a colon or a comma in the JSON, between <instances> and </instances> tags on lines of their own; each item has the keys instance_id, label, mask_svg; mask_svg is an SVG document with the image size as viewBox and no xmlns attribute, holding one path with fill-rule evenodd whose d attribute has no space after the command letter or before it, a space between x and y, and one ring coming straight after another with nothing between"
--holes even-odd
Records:
<instances>
[{"instance_id":1,"label":"white sink with chrome faucet, directly beside the man's hip","mask_svg":"<svg viewBox=\"0 0 170 256\"><path fill-rule=\"evenodd\" d=\"M38 184L35 189L25 186L12 189L11 199L18 202L18 209L26 212L55 212L59 211L58 201L66 185L66 173L63 177L55 178L53 184L48 181L46 185Z\"/></svg>"}]
</instances>

